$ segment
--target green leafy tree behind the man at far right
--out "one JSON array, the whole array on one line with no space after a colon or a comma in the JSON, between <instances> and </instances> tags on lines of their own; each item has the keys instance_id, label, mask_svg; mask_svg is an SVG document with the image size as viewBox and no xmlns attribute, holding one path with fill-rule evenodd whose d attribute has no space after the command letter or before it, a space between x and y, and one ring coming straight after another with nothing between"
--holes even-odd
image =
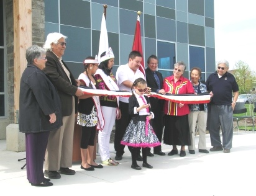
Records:
<instances>
[{"instance_id":1,"label":"green leafy tree behind the man at far right","mask_svg":"<svg viewBox=\"0 0 256 196\"><path fill-rule=\"evenodd\" d=\"M251 93L254 89L255 91L255 71L249 68L249 65L244 61L237 61L234 65L233 74L239 86L239 94Z\"/></svg>"}]
</instances>

